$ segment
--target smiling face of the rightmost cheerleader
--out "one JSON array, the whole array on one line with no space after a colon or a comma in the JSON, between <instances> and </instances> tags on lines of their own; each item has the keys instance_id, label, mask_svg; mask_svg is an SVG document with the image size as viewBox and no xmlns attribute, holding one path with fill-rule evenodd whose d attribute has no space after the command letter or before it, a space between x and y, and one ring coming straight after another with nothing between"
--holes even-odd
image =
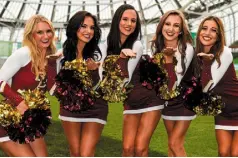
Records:
<instances>
[{"instance_id":1,"label":"smiling face of the rightmost cheerleader","mask_svg":"<svg viewBox=\"0 0 238 158\"><path fill-rule=\"evenodd\" d=\"M199 40L204 46L204 51L208 52L210 48L216 43L218 38L218 26L214 20L206 20L203 23L199 33Z\"/></svg>"}]
</instances>

